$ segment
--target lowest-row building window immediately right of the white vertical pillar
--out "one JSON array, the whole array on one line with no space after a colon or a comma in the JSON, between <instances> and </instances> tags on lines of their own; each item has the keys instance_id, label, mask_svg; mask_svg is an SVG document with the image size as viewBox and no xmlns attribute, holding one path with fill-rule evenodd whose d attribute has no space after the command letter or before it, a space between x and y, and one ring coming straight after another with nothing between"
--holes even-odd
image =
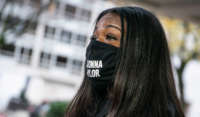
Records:
<instances>
[{"instance_id":1,"label":"lowest-row building window immediately right of the white vertical pillar","mask_svg":"<svg viewBox=\"0 0 200 117\"><path fill-rule=\"evenodd\" d=\"M41 52L40 54L40 67L49 68L51 61L51 54L46 52Z\"/></svg>"}]
</instances>

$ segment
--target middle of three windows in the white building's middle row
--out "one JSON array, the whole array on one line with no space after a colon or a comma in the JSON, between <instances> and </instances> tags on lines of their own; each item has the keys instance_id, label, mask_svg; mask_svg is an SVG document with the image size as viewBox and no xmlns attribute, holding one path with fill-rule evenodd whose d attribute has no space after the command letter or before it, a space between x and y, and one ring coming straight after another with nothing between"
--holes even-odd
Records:
<instances>
[{"instance_id":1,"label":"middle of three windows in the white building's middle row","mask_svg":"<svg viewBox=\"0 0 200 117\"><path fill-rule=\"evenodd\" d=\"M69 31L62 30L61 32L61 41L65 43L71 42L72 33Z\"/></svg>"}]
</instances>

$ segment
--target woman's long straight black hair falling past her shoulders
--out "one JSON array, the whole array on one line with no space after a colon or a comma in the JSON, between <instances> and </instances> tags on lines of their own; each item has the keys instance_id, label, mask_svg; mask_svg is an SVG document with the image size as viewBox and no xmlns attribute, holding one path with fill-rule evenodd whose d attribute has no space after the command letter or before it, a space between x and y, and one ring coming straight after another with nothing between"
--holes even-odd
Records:
<instances>
[{"instance_id":1,"label":"woman's long straight black hair falling past her shoulders","mask_svg":"<svg viewBox=\"0 0 200 117\"><path fill-rule=\"evenodd\" d=\"M177 98L165 32L151 12L140 7L115 7L103 11L121 19L120 60L108 117L184 117ZM126 28L126 32L125 32ZM94 117L98 99L84 77L66 117Z\"/></svg>"}]
</instances>

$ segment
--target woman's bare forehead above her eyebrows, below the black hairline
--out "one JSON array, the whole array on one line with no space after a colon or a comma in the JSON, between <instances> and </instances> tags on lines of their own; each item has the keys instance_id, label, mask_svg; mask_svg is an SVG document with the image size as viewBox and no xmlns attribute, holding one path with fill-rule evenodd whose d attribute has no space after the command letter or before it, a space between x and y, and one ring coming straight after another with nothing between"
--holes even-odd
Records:
<instances>
[{"instance_id":1,"label":"woman's bare forehead above her eyebrows, below the black hairline","mask_svg":"<svg viewBox=\"0 0 200 117\"><path fill-rule=\"evenodd\" d=\"M97 26L108 24L115 24L121 27L120 16L116 13L107 13L97 22Z\"/></svg>"}]
</instances>

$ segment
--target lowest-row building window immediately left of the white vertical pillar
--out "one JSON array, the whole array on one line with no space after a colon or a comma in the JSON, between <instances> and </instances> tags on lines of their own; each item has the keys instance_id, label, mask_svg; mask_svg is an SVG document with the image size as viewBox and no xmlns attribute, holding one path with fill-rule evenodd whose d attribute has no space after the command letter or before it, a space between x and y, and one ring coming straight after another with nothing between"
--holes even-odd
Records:
<instances>
[{"instance_id":1,"label":"lowest-row building window immediately left of the white vertical pillar","mask_svg":"<svg viewBox=\"0 0 200 117\"><path fill-rule=\"evenodd\" d=\"M24 64L30 64L32 57L32 49L22 47L19 53L19 62Z\"/></svg>"}]
</instances>

